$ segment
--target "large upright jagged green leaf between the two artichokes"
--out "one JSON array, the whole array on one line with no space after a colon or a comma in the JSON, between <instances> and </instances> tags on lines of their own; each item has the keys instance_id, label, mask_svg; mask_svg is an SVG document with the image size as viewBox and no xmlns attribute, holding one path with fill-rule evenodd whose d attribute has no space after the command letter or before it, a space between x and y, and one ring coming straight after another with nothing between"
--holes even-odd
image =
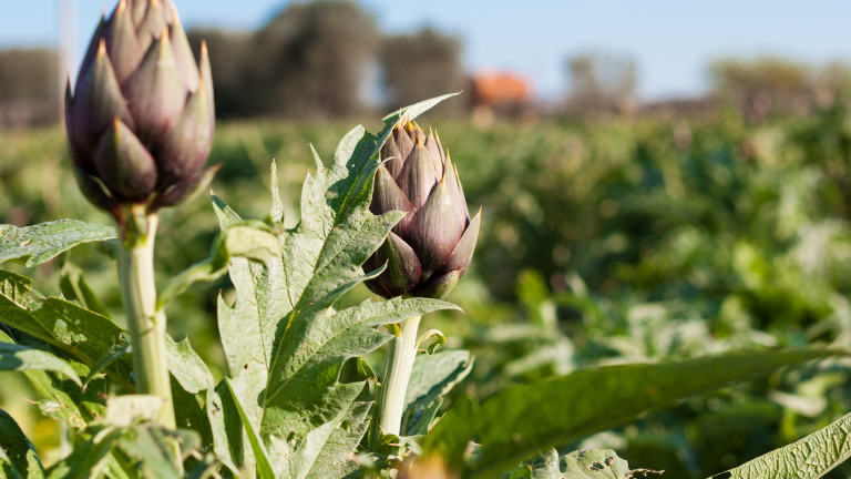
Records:
<instances>
[{"instance_id":1,"label":"large upright jagged green leaf between the two artichokes","mask_svg":"<svg viewBox=\"0 0 851 479\"><path fill-rule=\"evenodd\" d=\"M301 191L301 222L280 235L281 256L265 265L230 261L236 300L218 302L228 386L246 424L269 447L276 471L287 469L284 444L301 444L355 402L365 381L341 384L339 375L347 360L389 339L377 325L453 307L412 299L334 308L344 293L367 277L360 265L402 216L369 212L378 151L391 128L379 136L362 126L353 129L329 167L314 151L317 171L308 174ZM213 204L222 228L242 221L221 198L213 196ZM252 469L246 447L250 437L235 437L228 421L228 408L235 405L228 405L221 388L208 394L208 404L221 408L221 414L208 409L216 451L235 466Z\"/></svg>"}]
</instances>

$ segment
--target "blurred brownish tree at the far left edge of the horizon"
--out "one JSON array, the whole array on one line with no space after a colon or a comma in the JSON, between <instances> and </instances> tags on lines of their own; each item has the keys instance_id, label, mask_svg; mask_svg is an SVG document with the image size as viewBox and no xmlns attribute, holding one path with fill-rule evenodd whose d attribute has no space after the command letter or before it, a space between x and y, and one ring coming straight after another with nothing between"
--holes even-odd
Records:
<instances>
[{"instance_id":1,"label":"blurred brownish tree at the far left edge of the horizon","mask_svg":"<svg viewBox=\"0 0 851 479\"><path fill-rule=\"evenodd\" d=\"M59 118L59 65L49 49L0 50L0 124Z\"/></svg>"}]
</instances>

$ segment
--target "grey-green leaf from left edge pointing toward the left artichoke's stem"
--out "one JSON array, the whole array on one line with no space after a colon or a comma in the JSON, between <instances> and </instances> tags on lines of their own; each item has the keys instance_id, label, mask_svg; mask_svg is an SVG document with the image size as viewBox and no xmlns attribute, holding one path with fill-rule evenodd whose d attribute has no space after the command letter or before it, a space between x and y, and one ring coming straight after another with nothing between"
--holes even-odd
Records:
<instances>
[{"instance_id":1,"label":"grey-green leaf from left edge pointing toward the left artichoke's stem","mask_svg":"<svg viewBox=\"0 0 851 479\"><path fill-rule=\"evenodd\" d=\"M19 261L28 267L47 263L72 247L117 237L115 228L76 220L33 226L0 225L0 263Z\"/></svg>"}]
</instances>

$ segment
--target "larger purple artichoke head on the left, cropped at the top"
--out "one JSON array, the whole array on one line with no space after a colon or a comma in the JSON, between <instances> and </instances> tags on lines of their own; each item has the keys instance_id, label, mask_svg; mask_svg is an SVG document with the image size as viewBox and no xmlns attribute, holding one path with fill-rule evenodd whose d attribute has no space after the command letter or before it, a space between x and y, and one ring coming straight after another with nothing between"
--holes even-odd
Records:
<instances>
[{"instance_id":1,"label":"larger purple artichoke head on the left, cropped at the top","mask_svg":"<svg viewBox=\"0 0 851 479\"><path fill-rule=\"evenodd\" d=\"M170 0L121 0L92 37L65 90L74 176L121 222L121 206L153 213L203 190L215 129L206 45L199 67Z\"/></svg>"}]
</instances>

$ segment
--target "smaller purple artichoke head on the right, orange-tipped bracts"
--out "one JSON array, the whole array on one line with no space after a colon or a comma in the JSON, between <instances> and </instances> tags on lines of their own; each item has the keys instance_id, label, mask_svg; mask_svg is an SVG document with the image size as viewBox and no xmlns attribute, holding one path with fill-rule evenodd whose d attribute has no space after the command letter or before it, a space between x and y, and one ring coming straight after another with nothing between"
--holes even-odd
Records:
<instances>
[{"instance_id":1,"label":"smaller purple artichoke head on the right, orange-tipped bracts","mask_svg":"<svg viewBox=\"0 0 851 479\"><path fill-rule=\"evenodd\" d=\"M466 273L479 238L481 208L470 218L458 169L437 134L403 120L381 147L370 211L407 213L365 263L387 269L367 286L385 298L442 298Z\"/></svg>"}]
</instances>

